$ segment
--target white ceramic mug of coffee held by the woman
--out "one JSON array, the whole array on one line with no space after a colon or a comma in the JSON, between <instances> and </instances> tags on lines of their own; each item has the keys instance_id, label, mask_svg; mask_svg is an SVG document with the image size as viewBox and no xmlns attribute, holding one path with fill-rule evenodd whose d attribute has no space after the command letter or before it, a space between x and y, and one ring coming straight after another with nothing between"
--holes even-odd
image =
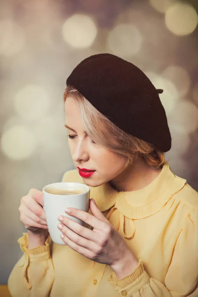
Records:
<instances>
[{"instance_id":1,"label":"white ceramic mug of coffee held by the woman","mask_svg":"<svg viewBox=\"0 0 198 297\"><path fill-rule=\"evenodd\" d=\"M54 191L55 189L68 191L76 190L82 191L83 193L74 195L56 195L47 192L50 190ZM66 207L74 207L88 212L90 202L90 188L87 185L81 183L54 183L43 188L43 195L44 210L46 213L50 237L55 244L66 245L60 237L62 232L57 227L58 223L60 223L57 217L59 215L63 215L84 226L85 222L74 216L70 216L64 211L64 209Z\"/></svg>"}]
</instances>

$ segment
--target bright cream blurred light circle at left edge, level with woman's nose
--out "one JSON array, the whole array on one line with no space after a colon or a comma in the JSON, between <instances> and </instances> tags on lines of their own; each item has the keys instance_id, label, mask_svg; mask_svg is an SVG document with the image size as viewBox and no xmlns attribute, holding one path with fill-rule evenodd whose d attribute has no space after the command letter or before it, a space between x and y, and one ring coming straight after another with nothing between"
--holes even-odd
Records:
<instances>
[{"instance_id":1,"label":"bright cream blurred light circle at left edge, level with woman's nose","mask_svg":"<svg viewBox=\"0 0 198 297\"><path fill-rule=\"evenodd\" d=\"M1 150L10 159L29 158L36 148L34 135L24 126L14 126L1 138Z\"/></svg>"}]
</instances>

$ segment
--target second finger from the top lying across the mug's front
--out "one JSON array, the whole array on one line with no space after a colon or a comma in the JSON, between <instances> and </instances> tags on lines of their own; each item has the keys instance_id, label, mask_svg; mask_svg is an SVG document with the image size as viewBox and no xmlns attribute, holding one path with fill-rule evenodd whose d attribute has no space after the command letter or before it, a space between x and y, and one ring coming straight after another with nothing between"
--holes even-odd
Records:
<instances>
[{"instance_id":1,"label":"second finger from the top lying across the mug's front","mask_svg":"<svg viewBox=\"0 0 198 297\"><path fill-rule=\"evenodd\" d=\"M63 224L63 227L66 226L67 229L70 229L73 233L75 232L76 234L79 234L81 237L84 237L89 241L89 244L90 241L99 244L99 235L97 232L90 230L63 215L61 217L63 218L63 220L60 221L60 223ZM86 245L86 247L88 246Z\"/></svg>"}]
</instances>

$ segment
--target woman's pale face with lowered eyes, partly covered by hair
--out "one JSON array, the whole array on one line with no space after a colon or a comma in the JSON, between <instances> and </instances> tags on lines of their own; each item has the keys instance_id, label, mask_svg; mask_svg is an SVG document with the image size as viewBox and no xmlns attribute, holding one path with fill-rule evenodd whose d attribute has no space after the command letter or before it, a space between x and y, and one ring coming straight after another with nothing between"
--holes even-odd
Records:
<instances>
[{"instance_id":1,"label":"woman's pale face with lowered eyes, partly covered by hair","mask_svg":"<svg viewBox=\"0 0 198 297\"><path fill-rule=\"evenodd\" d=\"M98 187L123 172L125 159L93 143L84 131L80 110L71 97L65 100L65 124L75 130L74 132L67 128L68 135L72 137L72 139L68 138L68 144L76 169L80 167L96 170L91 177L82 177L86 185Z\"/></svg>"}]
</instances>

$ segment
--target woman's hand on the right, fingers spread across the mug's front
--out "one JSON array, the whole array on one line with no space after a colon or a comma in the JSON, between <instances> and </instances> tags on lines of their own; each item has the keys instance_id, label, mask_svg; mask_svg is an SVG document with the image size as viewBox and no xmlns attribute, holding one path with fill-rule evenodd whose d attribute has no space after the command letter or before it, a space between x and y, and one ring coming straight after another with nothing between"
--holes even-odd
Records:
<instances>
[{"instance_id":1,"label":"woman's hand on the right, fingers spread across the mug's front","mask_svg":"<svg viewBox=\"0 0 198 297\"><path fill-rule=\"evenodd\" d=\"M62 229L58 229L64 235L62 240L67 246L93 261L112 267L133 254L120 233L104 217L93 199L91 200L90 209L93 215L73 207L69 208L69 215L86 222L94 228L93 230L65 216L62 216Z\"/></svg>"}]
</instances>

